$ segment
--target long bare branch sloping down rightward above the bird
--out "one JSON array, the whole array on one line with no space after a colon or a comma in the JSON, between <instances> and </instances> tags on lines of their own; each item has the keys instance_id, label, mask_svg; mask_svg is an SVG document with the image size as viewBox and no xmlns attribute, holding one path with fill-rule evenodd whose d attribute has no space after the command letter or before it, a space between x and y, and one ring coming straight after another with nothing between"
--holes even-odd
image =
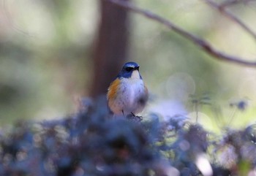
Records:
<instances>
[{"instance_id":1,"label":"long bare branch sloping down rightward above the bird","mask_svg":"<svg viewBox=\"0 0 256 176\"><path fill-rule=\"evenodd\" d=\"M256 61L246 61L246 59L239 58L236 56L230 56L225 53L222 53L221 51L215 49L215 47L213 47L206 40L201 39L200 37L197 37L194 34L189 33L189 31L185 31L183 28L176 26L174 23L170 22L170 20L162 18L161 16L153 12L150 12L146 9L141 9L140 7L136 7L132 3L129 3L126 1L119 1L119 0L104 0L104 1L109 1L113 4L118 5L119 7L129 9L132 12L136 12L140 15L143 15L146 18L150 18L151 20L155 20L158 23L162 23L163 25L167 26L167 28L172 29L182 37L189 39L191 42L195 43L195 45L197 45L198 47L203 48L203 50L206 51L206 53L208 53L210 56L214 56L214 58L217 58L221 61L228 61L235 64L241 64L244 66L256 66Z\"/></svg>"}]
</instances>

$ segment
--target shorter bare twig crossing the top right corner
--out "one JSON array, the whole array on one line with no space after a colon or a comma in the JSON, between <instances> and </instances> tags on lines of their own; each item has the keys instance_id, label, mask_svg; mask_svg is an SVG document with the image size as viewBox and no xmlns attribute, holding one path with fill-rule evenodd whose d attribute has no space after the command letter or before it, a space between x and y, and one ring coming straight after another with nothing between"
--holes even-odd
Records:
<instances>
[{"instance_id":1,"label":"shorter bare twig crossing the top right corner","mask_svg":"<svg viewBox=\"0 0 256 176\"><path fill-rule=\"evenodd\" d=\"M252 31L251 28L249 28L248 26L246 26L246 24L241 21L239 18L237 18L235 15L233 15L231 12L229 12L225 7L227 7L227 4L217 4L214 1L211 0L203 0L206 1L207 4L209 4L211 7L214 7L215 9L219 10L219 12L222 13L222 15L225 15L225 17L229 18L230 20L233 20L235 23L237 23L239 26L241 26L241 28L244 28L244 30L246 32L248 32L250 35L252 35L252 37L254 37L256 39L256 34L254 31ZM232 3L230 1L230 3ZM233 0L233 3L237 3L237 0Z\"/></svg>"}]
</instances>

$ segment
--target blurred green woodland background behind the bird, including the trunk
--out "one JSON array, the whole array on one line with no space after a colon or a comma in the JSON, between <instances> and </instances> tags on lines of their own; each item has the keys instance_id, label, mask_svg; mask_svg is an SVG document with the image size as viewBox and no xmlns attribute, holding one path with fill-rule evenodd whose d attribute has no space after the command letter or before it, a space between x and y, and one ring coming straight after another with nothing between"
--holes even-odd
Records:
<instances>
[{"instance_id":1,"label":"blurred green woodland background behind the bird, including the trunk","mask_svg":"<svg viewBox=\"0 0 256 176\"><path fill-rule=\"evenodd\" d=\"M255 60L255 38L203 0L132 2L224 53ZM256 1L228 9L256 32ZM151 93L145 115L198 117L208 129L255 122L255 68L211 58L162 24L113 4L1 0L0 26L1 126L76 112L80 97L105 93L125 61L140 64Z\"/></svg>"}]
</instances>

